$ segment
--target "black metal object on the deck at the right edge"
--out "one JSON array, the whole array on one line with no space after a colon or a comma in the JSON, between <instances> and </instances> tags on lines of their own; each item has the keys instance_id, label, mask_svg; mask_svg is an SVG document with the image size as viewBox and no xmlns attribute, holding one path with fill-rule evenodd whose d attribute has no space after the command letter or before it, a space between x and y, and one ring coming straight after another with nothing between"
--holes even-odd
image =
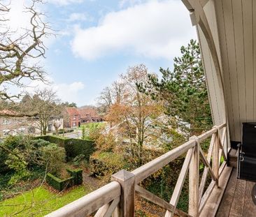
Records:
<instances>
[{"instance_id":1,"label":"black metal object on the deck at the right edge","mask_svg":"<svg viewBox=\"0 0 256 217\"><path fill-rule=\"evenodd\" d=\"M242 144L237 147L237 177L256 181L256 123L243 123Z\"/></svg>"}]
</instances>

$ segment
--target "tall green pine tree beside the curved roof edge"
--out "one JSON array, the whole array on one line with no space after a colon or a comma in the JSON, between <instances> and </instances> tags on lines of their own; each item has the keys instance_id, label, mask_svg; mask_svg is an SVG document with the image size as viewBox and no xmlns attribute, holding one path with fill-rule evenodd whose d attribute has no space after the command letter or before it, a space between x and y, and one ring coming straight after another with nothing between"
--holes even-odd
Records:
<instances>
[{"instance_id":1,"label":"tall green pine tree beside the curved roof edge","mask_svg":"<svg viewBox=\"0 0 256 217\"><path fill-rule=\"evenodd\" d=\"M173 71L160 68L162 78L149 75L147 84L138 84L141 91L155 100L164 100L166 113L190 124L190 133L198 134L212 126L211 109L199 43L190 40L180 48L181 56L173 59Z\"/></svg>"}]
</instances>

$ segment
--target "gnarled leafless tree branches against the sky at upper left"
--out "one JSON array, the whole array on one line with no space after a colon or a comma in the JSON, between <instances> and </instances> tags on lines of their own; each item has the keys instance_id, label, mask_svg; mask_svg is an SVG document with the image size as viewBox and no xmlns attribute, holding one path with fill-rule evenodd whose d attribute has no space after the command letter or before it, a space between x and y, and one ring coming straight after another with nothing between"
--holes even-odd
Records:
<instances>
[{"instance_id":1,"label":"gnarled leafless tree branches against the sky at upper left","mask_svg":"<svg viewBox=\"0 0 256 217\"><path fill-rule=\"evenodd\" d=\"M52 30L44 21L45 14L38 12L36 7L42 0L30 0L31 5L24 8L28 13L29 27L21 33L13 31L8 24L10 3L0 3L0 99L13 100L19 98L20 93L8 93L8 85L24 87L25 80L45 80L45 72L34 59L45 57L43 39L50 36ZM7 17L7 18L6 18ZM3 109L0 107L0 110Z\"/></svg>"}]
</instances>

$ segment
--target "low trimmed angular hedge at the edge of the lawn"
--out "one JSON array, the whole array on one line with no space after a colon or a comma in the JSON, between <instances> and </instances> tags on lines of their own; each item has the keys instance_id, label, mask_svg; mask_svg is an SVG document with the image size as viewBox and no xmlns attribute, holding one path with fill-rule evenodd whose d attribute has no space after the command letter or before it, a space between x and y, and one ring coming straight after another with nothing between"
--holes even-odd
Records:
<instances>
[{"instance_id":1,"label":"low trimmed angular hedge at the edge of the lawn","mask_svg":"<svg viewBox=\"0 0 256 217\"><path fill-rule=\"evenodd\" d=\"M72 186L77 186L83 183L83 170L70 170L66 169L71 177L67 179L59 179L55 177L53 174L48 173L46 176L46 182L55 188L56 190L62 191L66 188L70 188Z\"/></svg>"}]
</instances>

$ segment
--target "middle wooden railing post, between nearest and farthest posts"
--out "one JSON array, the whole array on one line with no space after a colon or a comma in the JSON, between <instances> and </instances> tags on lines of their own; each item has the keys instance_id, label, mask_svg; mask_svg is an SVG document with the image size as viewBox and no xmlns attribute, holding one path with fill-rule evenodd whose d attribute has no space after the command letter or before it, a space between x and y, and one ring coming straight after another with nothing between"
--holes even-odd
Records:
<instances>
[{"instance_id":1,"label":"middle wooden railing post, between nearest and farthest posts","mask_svg":"<svg viewBox=\"0 0 256 217\"><path fill-rule=\"evenodd\" d=\"M196 136L190 137L195 140L189 171L189 209L188 214L193 217L199 216L199 140Z\"/></svg>"}]
</instances>

